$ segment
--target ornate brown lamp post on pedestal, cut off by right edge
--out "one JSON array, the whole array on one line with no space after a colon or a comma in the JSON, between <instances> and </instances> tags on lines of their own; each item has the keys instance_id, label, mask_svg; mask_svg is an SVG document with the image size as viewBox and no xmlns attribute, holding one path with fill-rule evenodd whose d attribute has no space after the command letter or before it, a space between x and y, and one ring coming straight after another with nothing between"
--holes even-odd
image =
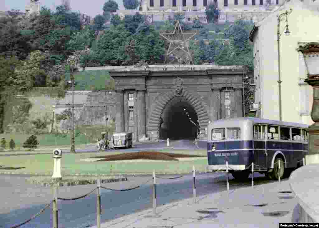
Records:
<instances>
[{"instance_id":1,"label":"ornate brown lamp post on pedestal, cut off by right edge","mask_svg":"<svg viewBox=\"0 0 319 228\"><path fill-rule=\"evenodd\" d=\"M319 163L319 42L308 43L298 48L303 54L307 78L305 82L313 87L313 103L311 109L311 119L315 122L308 128L309 151L306 155L306 164Z\"/></svg>"}]
</instances>

